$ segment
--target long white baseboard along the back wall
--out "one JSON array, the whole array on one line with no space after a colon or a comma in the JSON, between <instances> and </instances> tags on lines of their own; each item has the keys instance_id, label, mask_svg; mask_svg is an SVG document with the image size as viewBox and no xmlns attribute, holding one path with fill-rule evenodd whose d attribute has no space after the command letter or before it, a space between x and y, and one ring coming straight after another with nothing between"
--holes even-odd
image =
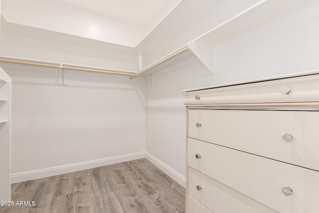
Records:
<instances>
[{"instance_id":1,"label":"long white baseboard along the back wall","mask_svg":"<svg viewBox=\"0 0 319 213\"><path fill-rule=\"evenodd\" d=\"M11 184L145 158L145 152L11 174Z\"/></svg>"}]
</instances>

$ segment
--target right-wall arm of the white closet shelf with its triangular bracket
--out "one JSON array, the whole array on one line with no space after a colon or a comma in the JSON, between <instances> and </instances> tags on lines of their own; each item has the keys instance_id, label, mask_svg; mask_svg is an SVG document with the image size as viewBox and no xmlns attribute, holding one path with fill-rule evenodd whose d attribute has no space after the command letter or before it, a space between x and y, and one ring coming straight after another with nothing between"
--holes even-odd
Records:
<instances>
[{"instance_id":1,"label":"right-wall arm of the white closet shelf with its triangular bracket","mask_svg":"<svg viewBox=\"0 0 319 213\"><path fill-rule=\"evenodd\" d=\"M167 67L172 64L172 61L177 63L191 56L189 52L202 63L208 70L208 74L214 73L214 46L267 24L315 1L316 0L261 0L259 3L219 24L194 40L188 41L186 45L144 68L138 72L137 75L146 71L156 71L159 70L159 68ZM160 65L161 63L163 64ZM160 66L155 68L158 65ZM131 78L135 77L136 76L133 76Z\"/></svg>"}]
</instances>

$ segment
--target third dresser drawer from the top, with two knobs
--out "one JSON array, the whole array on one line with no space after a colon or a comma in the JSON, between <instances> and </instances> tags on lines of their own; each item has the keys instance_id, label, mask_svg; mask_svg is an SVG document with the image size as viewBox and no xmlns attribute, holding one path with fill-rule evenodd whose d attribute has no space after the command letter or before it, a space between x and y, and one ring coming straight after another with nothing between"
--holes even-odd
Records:
<instances>
[{"instance_id":1,"label":"third dresser drawer from the top, with two knobs","mask_svg":"<svg viewBox=\"0 0 319 213\"><path fill-rule=\"evenodd\" d=\"M201 157L196 159L196 154ZM191 138L187 141L187 163L189 167L280 213L318 212L317 171ZM285 187L290 187L293 195L284 195L282 188ZM188 192L191 193L190 187Z\"/></svg>"}]
</instances>

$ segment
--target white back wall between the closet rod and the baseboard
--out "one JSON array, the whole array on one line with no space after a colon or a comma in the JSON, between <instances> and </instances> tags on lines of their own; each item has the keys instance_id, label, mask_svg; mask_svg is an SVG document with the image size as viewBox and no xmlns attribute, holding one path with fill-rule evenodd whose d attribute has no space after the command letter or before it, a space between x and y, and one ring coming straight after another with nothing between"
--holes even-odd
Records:
<instances>
[{"instance_id":1,"label":"white back wall between the closet rod and the baseboard","mask_svg":"<svg viewBox=\"0 0 319 213\"><path fill-rule=\"evenodd\" d=\"M144 153L143 78L69 71L59 86L58 69L1 66L12 78L11 174Z\"/></svg>"}]
</instances>

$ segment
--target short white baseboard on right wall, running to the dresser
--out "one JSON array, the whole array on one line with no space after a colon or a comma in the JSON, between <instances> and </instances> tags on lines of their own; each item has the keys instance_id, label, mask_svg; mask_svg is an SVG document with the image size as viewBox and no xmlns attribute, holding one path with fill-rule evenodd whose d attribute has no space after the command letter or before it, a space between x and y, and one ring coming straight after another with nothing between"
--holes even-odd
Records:
<instances>
[{"instance_id":1,"label":"short white baseboard on right wall, running to the dresser","mask_svg":"<svg viewBox=\"0 0 319 213\"><path fill-rule=\"evenodd\" d=\"M182 187L186 187L186 178L161 162L159 159L151 155L150 153L145 153L145 158L148 159L152 164L157 166L161 171L163 171L166 175L171 177L174 181L180 184Z\"/></svg>"}]
</instances>

